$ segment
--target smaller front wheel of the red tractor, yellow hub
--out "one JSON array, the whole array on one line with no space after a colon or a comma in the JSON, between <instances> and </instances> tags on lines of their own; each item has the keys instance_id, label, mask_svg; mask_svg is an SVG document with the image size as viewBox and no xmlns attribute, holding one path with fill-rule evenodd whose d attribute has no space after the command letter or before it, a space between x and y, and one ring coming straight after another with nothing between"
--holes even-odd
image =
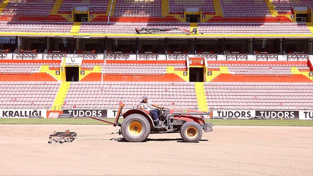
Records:
<instances>
[{"instance_id":1,"label":"smaller front wheel of the red tractor, yellow hub","mask_svg":"<svg viewBox=\"0 0 313 176\"><path fill-rule=\"evenodd\" d=\"M202 137L202 133L203 131L201 126L194 121L189 121L182 124L180 129L180 135L186 142L198 142Z\"/></svg>"}]
</instances>

